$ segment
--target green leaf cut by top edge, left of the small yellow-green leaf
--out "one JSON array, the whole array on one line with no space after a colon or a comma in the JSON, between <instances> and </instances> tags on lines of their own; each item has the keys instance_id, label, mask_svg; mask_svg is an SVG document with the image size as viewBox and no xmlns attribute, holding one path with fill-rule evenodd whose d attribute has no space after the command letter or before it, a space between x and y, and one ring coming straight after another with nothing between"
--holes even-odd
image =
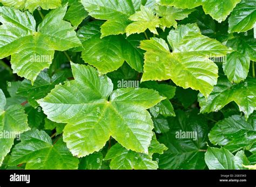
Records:
<instances>
[{"instance_id":1,"label":"green leaf cut by top edge, left of the small yellow-green leaf","mask_svg":"<svg viewBox=\"0 0 256 187\"><path fill-rule=\"evenodd\" d=\"M133 0L81 0L89 15L101 20L107 20L102 25L102 38L107 35L124 34L125 28L131 23L129 17L139 10L141 1Z\"/></svg>"}]
</instances>

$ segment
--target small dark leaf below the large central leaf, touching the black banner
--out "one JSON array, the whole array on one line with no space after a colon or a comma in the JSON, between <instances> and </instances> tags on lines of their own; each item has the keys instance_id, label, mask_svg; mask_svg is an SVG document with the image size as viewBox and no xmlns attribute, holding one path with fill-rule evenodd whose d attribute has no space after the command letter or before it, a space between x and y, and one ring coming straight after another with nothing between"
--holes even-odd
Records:
<instances>
[{"instance_id":1,"label":"small dark leaf below the large central leaf, touching the black banner","mask_svg":"<svg viewBox=\"0 0 256 187\"><path fill-rule=\"evenodd\" d=\"M85 156L81 159L78 169L101 169L103 161L103 154L96 152Z\"/></svg>"}]
</instances>

